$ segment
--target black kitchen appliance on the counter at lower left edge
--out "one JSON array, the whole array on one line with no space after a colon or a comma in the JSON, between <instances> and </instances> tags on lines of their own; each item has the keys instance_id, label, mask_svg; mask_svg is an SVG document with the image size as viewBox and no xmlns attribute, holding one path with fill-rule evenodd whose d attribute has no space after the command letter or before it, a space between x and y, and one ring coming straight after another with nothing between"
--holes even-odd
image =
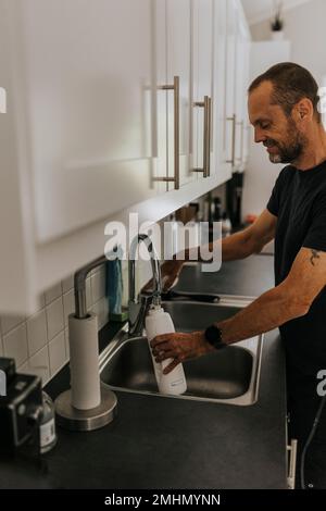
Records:
<instances>
[{"instance_id":1,"label":"black kitchen appliance on the counter at lower left edge","mask_svg":"<svg viewBox=\"0 0 326 511\"><path fill-rule=\"evenodd\" d=\"M32 439L38 451L41 381L35 375L16 373L13 359L0 358L0 372L5 383L5 391L0 395L0 457L14 454Z\"/></svg>"}]
</instances>

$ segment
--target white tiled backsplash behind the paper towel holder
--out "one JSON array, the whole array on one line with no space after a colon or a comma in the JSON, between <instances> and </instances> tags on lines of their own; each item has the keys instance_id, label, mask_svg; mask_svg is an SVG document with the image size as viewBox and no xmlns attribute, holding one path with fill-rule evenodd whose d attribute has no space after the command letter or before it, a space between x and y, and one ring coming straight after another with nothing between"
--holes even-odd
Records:
<instances>
[{"instance_id":1,"label":"white tiled backsplash behind the paper towel holder","mask_svg":"<svg viewBox=\"0 0 326 511\"><path fill-rule=\"evenodd\" d=\"M105 267L93 270L86 281L87 308L98 314L99 328L109 319ZM12 357L20 372L35 373L43 385L68 360L67 316L74 312L73 276L40 297L30 316L0 315L0 357Z\"/></svg>"}]
</instances>

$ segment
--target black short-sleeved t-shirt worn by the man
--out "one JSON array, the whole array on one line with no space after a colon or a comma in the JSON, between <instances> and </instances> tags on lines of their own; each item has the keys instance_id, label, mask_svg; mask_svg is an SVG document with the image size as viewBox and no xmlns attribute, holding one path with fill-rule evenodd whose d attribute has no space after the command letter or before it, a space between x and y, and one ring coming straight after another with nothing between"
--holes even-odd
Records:
<instances>
[{"instance_id":1,"label":"black short-sleeved t-shirt worn by the man","mask_svg":"<svg viewBox=\"0 0 326 511\"><path fill-rule=\"evenodd\" d=\"M301 247L326 252L326 162L299 171L288 165L279 173L268 211L277 216L275 285L289 274ZM326 287L308 314L279 327L288 362L316 376L326 369Z\"/></svg>"}]
</instances>

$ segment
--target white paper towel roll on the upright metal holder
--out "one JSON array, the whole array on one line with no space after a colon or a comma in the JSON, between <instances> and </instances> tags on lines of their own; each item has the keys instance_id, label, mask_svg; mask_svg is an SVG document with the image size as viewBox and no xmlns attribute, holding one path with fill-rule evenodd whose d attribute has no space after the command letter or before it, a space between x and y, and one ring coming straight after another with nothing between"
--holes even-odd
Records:
<instances>
[{"instance_id":1,"label":"white paper towel roll on the upright metal holder","mask_svg":"<svg viewBox=\"0 0 326 511\"><path fill-rule=\"evenodd\" d=\"M68 328L72 406L89 410L101 402L97 315L78 320L71 314Z\"/></svg>"}]
</instances>

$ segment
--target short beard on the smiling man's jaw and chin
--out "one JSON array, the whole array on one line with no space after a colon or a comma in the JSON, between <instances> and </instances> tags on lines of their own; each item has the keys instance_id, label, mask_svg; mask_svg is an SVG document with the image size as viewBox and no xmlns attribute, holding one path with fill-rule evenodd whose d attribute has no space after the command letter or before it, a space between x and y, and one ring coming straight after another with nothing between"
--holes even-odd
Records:
<instances>
[{"instance_id":1,"label":"short beard on the smiling man's jaw and chin","mask_svg":"<svg viewBox=\"0 0 326 511\"><path fill-rule=\"evenodd\" d=\"M296 123L292 120L288 121L285 141L278 142L268 138L264 142L265 147L273 147L278 150L275 154L268 154L272 163L293 163L303 153L305 145L305 137L298 130Z\"/></svg>"}]
</instances>

